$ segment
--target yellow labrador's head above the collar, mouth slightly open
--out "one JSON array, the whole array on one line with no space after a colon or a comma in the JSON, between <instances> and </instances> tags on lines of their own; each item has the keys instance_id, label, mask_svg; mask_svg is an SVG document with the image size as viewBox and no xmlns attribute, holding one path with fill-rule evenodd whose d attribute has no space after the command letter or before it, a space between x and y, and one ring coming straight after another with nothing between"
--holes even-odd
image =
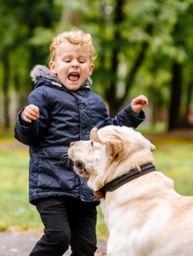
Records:
<instances>
[{"instance_id":1,"label":"yellow labrador's head above the collar, mouth slightly open","mask_svg":"<svg viewBox=\"0 0 193 256\"><path fill-rule=\"evenodd\" d=\"M110 125L100 130L93 128L90 141L72 143L68 155L75 162L75 172L88 179L91 189L99 190L129 170L153 162L154 149L139 132Z\"/></svg>"}]
</instances>

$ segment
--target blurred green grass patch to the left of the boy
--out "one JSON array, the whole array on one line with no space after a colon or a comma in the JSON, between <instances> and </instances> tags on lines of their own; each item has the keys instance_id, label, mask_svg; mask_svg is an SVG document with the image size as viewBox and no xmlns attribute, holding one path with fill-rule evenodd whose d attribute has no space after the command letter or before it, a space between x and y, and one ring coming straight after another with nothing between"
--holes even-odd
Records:
<instances>
[{"instance_id":1,"label":"blurred green grass patch to the left of the boy","mask_svg":"<svg viewBox=\"0 0 193 256\"><path fill-rule=\"evenodd\" d=\"M28 201L28 152L0 150L0 230L10 226L41 228L34 206Z\"/></svg>"}]
</instances>

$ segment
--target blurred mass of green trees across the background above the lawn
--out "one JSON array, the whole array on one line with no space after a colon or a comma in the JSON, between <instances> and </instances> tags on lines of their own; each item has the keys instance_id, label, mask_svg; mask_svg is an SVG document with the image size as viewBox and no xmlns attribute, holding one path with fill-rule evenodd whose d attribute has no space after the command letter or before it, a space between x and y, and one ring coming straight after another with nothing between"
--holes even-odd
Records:
<instances>
[{"instance_id":1,"label":"blurred mass of green trees across the background above the lawn","mask_svg":"<svg viewBox=\"0 0 193 256\"><path fill-rule=\"evenodd\" d=\"M98 53L92 90L106 100L110 115L135 91L150 98L153 124L166 110L170 129L187 125L192 0L0 0L0 15L5 117L8 86L15 86L22 106L33 65L47 63L56 34L78 26L92 34Z\"/></svg>"}]
</instances>

